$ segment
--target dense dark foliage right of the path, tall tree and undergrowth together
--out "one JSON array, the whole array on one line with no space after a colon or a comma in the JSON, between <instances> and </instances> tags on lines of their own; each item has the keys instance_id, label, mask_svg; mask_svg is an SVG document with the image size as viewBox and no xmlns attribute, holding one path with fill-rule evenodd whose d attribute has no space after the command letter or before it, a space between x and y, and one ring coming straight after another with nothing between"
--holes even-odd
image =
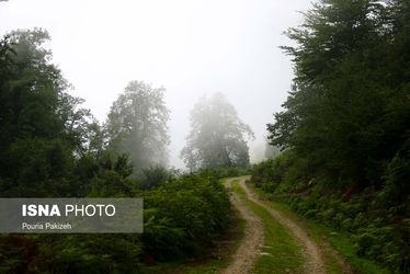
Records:
<instances>
[{"instance_id":1,"label":"dense dark foliage right of the path, tall tree and undergrowth together","mask_svg":"<svg viewBox=\"0 0 410 274\"><path fill-rule=\"evenodd\" d=\"M267 125L286 152L253 181L297 193L287 201L352 232L357 254L409 271L409 2L322 0L287 34L296 78Z\"/></svg>"}]
</instances>

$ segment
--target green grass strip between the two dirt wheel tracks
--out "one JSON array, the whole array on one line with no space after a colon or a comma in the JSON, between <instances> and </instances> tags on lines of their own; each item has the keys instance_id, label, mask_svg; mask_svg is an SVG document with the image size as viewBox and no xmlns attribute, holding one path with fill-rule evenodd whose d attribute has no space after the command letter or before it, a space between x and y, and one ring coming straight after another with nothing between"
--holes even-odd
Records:
<instances>
[{"instance_id":1,"label":"green grass strip between the two dirt wheel tracks","mask_svg":"<svg viewBox=\"0 0 410 274\"><path fill-rule=\"evenodd\" d=\"M238 182L232 191L238 193L246 204L262 220L264 246L261 255L254 263L255 273L299 273L303 263L300 248L296 239L266 209L246 198L246 193Z\"/></svg>"}]
</instances>

